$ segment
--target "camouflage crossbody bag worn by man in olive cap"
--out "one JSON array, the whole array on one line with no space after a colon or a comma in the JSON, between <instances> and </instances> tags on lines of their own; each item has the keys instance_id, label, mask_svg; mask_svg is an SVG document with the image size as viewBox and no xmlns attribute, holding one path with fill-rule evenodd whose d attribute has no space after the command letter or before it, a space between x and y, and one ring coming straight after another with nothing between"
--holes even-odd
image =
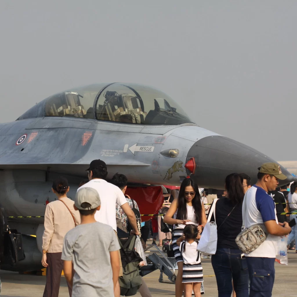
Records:
<instances>
[{"instance_id":1,"label":"camouflage crossbody bag worn by man in olive cap","mask_svg":"<svg viewBox=\"0 0 297 297\"><path fill-rule=\"evenodd\" d=\"M268 235L264 224L253 225L250 228L245 228L247 219L247 200L244 197L242 210L242 231L237 235L235 242L238 248L248 254L257 249L266 239Z\"/></svg>"}]
</instances>

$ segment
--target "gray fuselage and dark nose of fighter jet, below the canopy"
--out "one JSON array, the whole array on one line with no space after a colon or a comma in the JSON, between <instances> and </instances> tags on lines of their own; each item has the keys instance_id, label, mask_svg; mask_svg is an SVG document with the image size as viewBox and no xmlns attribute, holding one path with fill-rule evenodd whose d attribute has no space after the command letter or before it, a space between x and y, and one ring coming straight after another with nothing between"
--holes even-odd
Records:
<instances>
[{"instance_id":1,"label":"gray fuselage and dark nose of fighter jet, below the canopy","mask_svg":"<svg viewBox=\"0 0 297 297\"><path fill-rule=\"evenodd\" d=\"M254 179L257 167L273 161L194 123L144 125L45 117L45 102L24 114L35 113L35 118L20 117L0 124L0 202L7 216L43 216L46 200L56 198L51 182L59 175L68 178L69 197L74 198L93 159L106 162L108 178L119 172L132 184L180 185L191 175L185 164L195 157L196 171L192 177L200 187L216 189L224 187L228 173L245 172ZM172 149L178 153L174 157L166 155ZM293 181L283 167L282 171L288 176L285 182ZM40 224L42 218L10 220L11 228L24 234L35 234Z\"/></svg>"}]
</instances>

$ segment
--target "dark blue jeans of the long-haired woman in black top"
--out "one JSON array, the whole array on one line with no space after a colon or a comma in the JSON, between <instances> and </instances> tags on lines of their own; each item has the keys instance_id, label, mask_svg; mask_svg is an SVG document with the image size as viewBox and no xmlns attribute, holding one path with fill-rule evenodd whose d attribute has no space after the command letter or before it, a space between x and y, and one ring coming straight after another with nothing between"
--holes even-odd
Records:
<instances>
[{"instance_id":1,"label":"dark blue jeans of the long-haired woman in black top","mask_svg":"<svg viewBox=\"0 0 297 297\"><path fill-rule=\"evenodd\" d=\"M249 273L246 258L241 259L240 249L217 249L211 264L217 279L219 297L230 297L232 279L237 297L249 297Z\"/></svg>"}]
</instances>

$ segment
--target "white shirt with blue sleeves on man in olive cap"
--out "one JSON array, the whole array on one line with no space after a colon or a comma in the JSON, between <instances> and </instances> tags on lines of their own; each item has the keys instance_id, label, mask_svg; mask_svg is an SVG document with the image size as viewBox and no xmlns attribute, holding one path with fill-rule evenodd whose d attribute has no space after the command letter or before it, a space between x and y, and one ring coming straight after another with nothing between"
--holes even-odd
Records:
<instances>
[{"instance_id":1,"label":"white shirt with blue sleeves on man in olive cap","mask_svg":"<svg viewBox=\"0 0 297 297\"><path fill-rule=\"evenodd\" d=\"M245 228L271 220L275 220L278 224L275 203L264 189L254 185L247 191L242 203L242 213L244 213L245 203L247 203L246 221L243 222ZM278 236L268 234L266 240L257 249L245 254L246 257L275 258L277 240Z\"/></svg>"}]
</instances>

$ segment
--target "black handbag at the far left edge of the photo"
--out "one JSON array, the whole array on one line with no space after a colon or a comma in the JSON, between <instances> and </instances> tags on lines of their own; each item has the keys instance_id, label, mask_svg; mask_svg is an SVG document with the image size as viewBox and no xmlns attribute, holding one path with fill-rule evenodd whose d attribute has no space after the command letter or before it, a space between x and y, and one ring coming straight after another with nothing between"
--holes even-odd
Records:
<instances>
[{"instance_id":1,"label":"black handbag at the far left edge of the photo","mask_svg":"<svg viewBox=\"0 0 297 297\"><path fill-rule=\"evenodd\" d=\"M16 265L18 261L25 259L22 234L17 230L10 229L2 211L0 213L3 230L1 236L3 251L1 264Z\"/></svg>"}]
</instances>

